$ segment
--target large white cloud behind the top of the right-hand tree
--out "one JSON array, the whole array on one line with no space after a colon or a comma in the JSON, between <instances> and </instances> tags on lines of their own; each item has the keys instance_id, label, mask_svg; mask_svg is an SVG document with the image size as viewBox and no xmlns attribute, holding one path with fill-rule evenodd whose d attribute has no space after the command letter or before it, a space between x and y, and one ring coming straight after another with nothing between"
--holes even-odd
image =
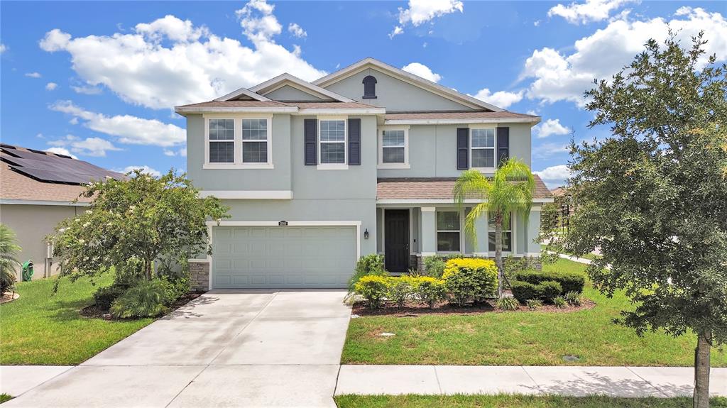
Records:
<instances>
[{"instance_id":1,"label":"large white cloud behind the top of the right-hand tree","mask_svg":"<svg viewBox=\"0 0 727 408\"><path fill-rule=\"evenodd\" d=\"M643 51L649 38L664 41L671 28L683 46L704 30L706 55L727 59L727 20L718 12L682 7L670 21L654 18L644 21L614 20L606 28L579 39L571 54L551 48L537 49L525 62L522 78L533 78L527 96L541 102L571 101L585 105L583 92L593 87L593 79L609 79ZM707 56L702 64L707 61Z\"/></svg>"}]
</instances>

